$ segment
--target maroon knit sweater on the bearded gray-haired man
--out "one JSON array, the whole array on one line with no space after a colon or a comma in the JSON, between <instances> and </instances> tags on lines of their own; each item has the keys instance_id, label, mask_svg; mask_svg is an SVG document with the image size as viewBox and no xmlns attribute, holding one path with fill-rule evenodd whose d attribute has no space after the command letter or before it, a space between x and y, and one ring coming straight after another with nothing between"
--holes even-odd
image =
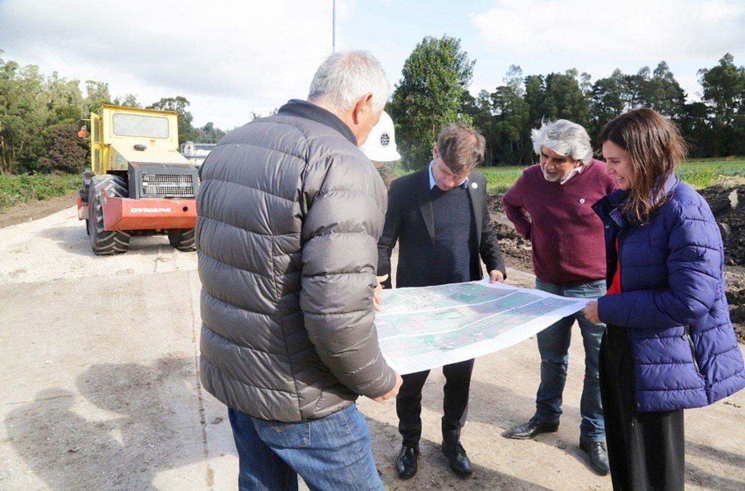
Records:
<instances>
[{"instance_id":1,"label":"maroon knit sweater on the bearded gray-haired man","mask_svg":"<svg viewBox=\"0 0 745 491\"><path fill-rule=\"evenodd\" d=\"M540 165L526 168L504 194L504 212L533 245L533 270L551 283L605 279L603 223L595 201L616 189L605 162L592 159L564 184L545 180Z\"/></svg>"}]
</instances>

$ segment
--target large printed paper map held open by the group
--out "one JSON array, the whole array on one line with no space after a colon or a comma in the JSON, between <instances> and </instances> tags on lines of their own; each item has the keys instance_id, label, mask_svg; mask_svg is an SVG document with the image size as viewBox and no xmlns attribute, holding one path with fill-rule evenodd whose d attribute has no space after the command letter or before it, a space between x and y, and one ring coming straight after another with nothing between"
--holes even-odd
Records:
<instances>
[{"instance_id":1,"label":"large printed paper map held open by the group","mask_svg":"<svg viewBox=\"0 0 745 491\"><path fill-rule=\"evenodd\" d=\"M388 364L414 373L513 346L587 302L488 279L396 288L383 291L375 326Z\"/></svg>"}]
</instances>

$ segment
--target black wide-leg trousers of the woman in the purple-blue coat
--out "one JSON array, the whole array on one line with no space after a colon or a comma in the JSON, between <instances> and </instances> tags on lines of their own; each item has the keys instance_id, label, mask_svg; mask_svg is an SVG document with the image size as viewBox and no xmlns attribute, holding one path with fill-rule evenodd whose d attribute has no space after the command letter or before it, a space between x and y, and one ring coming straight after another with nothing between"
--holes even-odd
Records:
<instances>
[{"instance_id":1,"label":"black wide-leg trousers of the woman in the purple-blue coat","mask_svg":"<svg viewBox=\"0 0 745 491\"><path fill-rule=\"evenodd\" d=\"M600 396L614 490L682 490L683 410L635 411L634 367L626 328L608 326L600 343Z\"/></svg>"}]
</instances>

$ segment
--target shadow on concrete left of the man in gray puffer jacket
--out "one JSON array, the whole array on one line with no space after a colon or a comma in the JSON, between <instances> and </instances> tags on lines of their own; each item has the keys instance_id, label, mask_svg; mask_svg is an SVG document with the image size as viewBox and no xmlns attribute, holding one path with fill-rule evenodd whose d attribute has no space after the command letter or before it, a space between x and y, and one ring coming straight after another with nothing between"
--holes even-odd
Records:
<instances>
[{"instance_id":1,"label":"shadow on concrete left of the man in gray puffer jacket","mask_svg":"<svg viewBox=\"0 0 745 491\"><path fill-rule=\"evenodd\" d=\"M159 472L206 458L190 379L188 358L94 365L77 376L78 393L42 390L11 411L7 434L54 490L152 489ZM95 419L80 414L90 411L86 403L95 406ZM194 486L208 487L206 481Z\"/></svg>"}]
</instances>

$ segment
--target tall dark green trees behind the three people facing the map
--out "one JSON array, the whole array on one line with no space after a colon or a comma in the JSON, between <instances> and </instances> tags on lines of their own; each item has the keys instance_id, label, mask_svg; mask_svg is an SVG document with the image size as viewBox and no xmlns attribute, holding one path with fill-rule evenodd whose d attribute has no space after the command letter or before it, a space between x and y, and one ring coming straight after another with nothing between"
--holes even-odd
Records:
<instances>
[{"instance_id":1,"label":"tall dark green trees behind the three people facing the map","mask_svg":"<svg viewBox=\"0 0 745 491\"><path fill-rule=\"evenodd\" d=\"M582 124L597 148L597 134L615 116L636 107L650 107L680 128L695 157L745 154L745 68L725 54L711 68L697 72L701 100L686 102L685 91L665 61L635 74L616 69L592 82L588 73L524 75L510 66L493 92L475 97L468 91L475 60L460 39L425 37L404 63L387 107L396 124L396 143L406 168L431 159L443 125L464 121L486 138L485 165L527 165L535 161L530 130L544 119Z\"/></svg>"}]
</instances>

